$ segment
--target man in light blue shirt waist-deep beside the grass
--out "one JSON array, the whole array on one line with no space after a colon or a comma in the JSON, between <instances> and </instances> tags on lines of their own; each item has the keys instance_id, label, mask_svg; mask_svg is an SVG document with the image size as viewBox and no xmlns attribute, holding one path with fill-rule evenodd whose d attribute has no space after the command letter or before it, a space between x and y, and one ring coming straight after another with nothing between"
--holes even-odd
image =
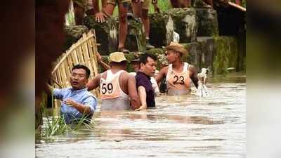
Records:
<instances>
[{"instance_id":1,"label":"man in light blue shirt waist-deep beside the grass","mask_svg":"<svg viewBox=\"0 0 281 158\"><path fill-rule=\"evenodd\" d=\"M90 70L84 65L74 65L70 75L72 87L53 89L53 96L62 100L60 114L64 117L66 124L71 124L75 119L91 119L98 103L95 96L87 91Z\"/></svg>"}]
</instances>

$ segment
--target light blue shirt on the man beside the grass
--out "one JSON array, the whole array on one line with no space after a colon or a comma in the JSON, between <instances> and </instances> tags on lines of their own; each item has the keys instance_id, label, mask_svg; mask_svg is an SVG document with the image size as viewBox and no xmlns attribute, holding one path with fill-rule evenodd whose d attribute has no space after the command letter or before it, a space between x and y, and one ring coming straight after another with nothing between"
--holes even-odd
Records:
<instances>
[{"instance_id":1,"label":"light blue shirt on the man beside the grass","mask_svg":"<svg viewBox=\"0 0 281 158\"><path fill-rule=\"evenodd\" d=\"M88 118L91 118L93 115L93 112L96 110L96 105L98 104L98 100L95 96L93 96L92 93L87 91L87 88L74 90L73 88L54 88L53 89L53 96L56 99L65 101L68 98L72 99L73 101L89 106L91 110L91 114L89 114ZM63 115L65 118L65 123L70 124L73 119L79 119L83 117L83 114L79 112L76 108L70 107L68 105L65 105L65 103L62 102L60 106L60 114Z\"/></svg>"}]
</instances>

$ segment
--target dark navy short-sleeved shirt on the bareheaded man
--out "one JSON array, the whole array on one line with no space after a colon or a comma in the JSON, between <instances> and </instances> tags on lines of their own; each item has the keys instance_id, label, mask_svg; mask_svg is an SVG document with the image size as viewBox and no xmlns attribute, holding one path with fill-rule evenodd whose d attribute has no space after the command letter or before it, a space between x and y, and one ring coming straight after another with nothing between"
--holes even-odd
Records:
<instances>
[{"instance_id":1,"label":"dark navy short-sleeved shirt on the bareheaded man","mask_svg":"<svg viewBox=\"0 0 281 158\"><path fill-rule=\"evenodd\" d=\"M143 86L146 92L146 104L148 107L155 107L155 94L150 77L143 72L136 72L136 88Z\"/></svg>"}]
</instances>

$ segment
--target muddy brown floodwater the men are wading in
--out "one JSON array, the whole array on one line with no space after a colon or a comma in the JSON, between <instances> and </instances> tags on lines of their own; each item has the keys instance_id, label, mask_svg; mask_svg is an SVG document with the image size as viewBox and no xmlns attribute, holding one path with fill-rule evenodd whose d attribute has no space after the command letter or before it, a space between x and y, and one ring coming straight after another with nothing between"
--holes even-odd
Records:
<instances>
[{"instance_id":1,"label":"muddy brown floodwater the men are wading in","mask_svg":"<svg viewBox=\"0 0 281 158\"><path fill-rule=\"evenodd\" d=\"M45 141L36 157L246 157L246 77L210 78L210 96L159 96L141 112L98 112L81 127Z\"/></svg>"}]
</instances>

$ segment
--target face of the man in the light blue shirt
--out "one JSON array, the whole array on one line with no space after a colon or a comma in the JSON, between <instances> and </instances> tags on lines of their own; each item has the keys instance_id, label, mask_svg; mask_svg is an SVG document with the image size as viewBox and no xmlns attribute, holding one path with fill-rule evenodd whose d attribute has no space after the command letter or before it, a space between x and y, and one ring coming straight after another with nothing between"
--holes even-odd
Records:
<instances>
[{"instance_id":1,"label":"face of the man in the light blue shirt","mask_svg":"<svg viewBox=\"0 0 281 158\"><path fill-rule=\"evenodd\" d=\"M86 87L88 79L86 77L86 71L84 69L72 70L70 76L70 84L75 90L79 90Z\"/></svg>"}]
</instances>

